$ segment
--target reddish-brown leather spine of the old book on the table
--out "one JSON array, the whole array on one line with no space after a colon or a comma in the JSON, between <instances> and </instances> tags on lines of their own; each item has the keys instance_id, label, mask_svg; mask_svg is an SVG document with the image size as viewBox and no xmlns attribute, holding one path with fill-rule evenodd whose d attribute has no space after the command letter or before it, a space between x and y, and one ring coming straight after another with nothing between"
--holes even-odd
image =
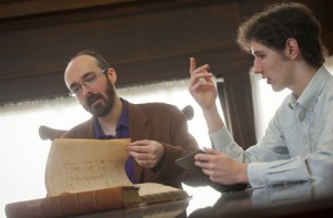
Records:
<instances>
[{"instance_id":1,"label":"reddish-brown leather spine of the old book on the table","mask_svg":"<svg viewBox=\"0 0 333 218\"><path fill-rule=\"evenodd\" d=\"M61 218L124 208L122 188L64 194L6 205L7 218Z\"/></svg>"}]
</instances>

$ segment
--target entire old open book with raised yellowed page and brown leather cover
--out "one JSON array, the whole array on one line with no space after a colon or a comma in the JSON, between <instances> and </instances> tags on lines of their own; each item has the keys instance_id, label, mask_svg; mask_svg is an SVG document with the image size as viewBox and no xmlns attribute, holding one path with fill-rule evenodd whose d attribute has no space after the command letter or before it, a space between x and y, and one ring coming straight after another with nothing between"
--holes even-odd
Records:
<instances>
[{"instance_id":1,"label":"entire old open book with raised yellowed page and brown leather cover","mask_svg":"<svg viewBox=\"0 0 333 218\"><path fill-rule=\"evenodd\" d=\"M124 170L129 142L56 138L46 167L47 197L7 204L7 217L69 217L189 197L162 184L133 185Z\"/></svg>"}]
</instances>

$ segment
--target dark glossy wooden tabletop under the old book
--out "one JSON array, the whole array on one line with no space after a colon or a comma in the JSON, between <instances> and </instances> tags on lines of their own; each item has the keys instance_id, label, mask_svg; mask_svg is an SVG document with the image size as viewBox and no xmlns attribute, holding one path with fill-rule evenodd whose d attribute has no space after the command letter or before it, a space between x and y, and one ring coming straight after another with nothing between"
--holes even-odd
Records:
<instances>
[{"instance_id":1,"label":"dark glossy wooden tabletop under the old book","mask_svg":"<svg viewBox=\"0 0 333 218\"><path fill-rule=\"evenodd\" d=\"M206 196L209 198L209 196ZM254 217L333 217L333 179L297 183L260 189L224 193L211 207L198 207L186 214L189 203L183 199L140 208L113 210L82 218L254 218ZM204 200L204 199L202 199Z\"/></svg>"}]
</instances>

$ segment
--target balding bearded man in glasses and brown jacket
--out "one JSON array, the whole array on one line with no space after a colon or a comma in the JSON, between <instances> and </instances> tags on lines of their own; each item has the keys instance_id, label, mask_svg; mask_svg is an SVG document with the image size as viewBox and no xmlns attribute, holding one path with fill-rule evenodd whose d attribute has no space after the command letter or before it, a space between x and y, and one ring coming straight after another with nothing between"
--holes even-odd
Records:
<instances>
[{"instance_id":1,"label":"balding bearded man in glasses and brown jacket","mask_svg":"<svg viewBox=\"0 0 333 218\"><path fill-rule=\"evenodd\" d=\"M92 117L61 137L131 138L125 172L132 183L161 183L181 188L184 172L174 160L198 148L184 114L163 103L132 104L115 92L117 73L93 51L74 55L64 72L70 95Z\"/></svg>"}]
</instances>

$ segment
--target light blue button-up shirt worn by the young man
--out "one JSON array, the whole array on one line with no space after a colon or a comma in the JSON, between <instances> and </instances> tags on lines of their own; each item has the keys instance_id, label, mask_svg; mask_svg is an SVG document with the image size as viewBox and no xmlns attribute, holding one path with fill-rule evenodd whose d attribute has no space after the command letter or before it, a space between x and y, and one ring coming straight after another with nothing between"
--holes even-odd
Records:
<instances>
[{"instance_id":1,"label":"light blue button-up shirt worn by the young man","mask_svg":"<svg viewBox=\"0 0 333 218\"><path fill-rule=\"evenodd\" d=\"M333 178L333 76L322 66L299 98L285 97L256 145L243 150L225 126L213 147L249 163L252 187Z\"/></svg>"}]
</instances>

